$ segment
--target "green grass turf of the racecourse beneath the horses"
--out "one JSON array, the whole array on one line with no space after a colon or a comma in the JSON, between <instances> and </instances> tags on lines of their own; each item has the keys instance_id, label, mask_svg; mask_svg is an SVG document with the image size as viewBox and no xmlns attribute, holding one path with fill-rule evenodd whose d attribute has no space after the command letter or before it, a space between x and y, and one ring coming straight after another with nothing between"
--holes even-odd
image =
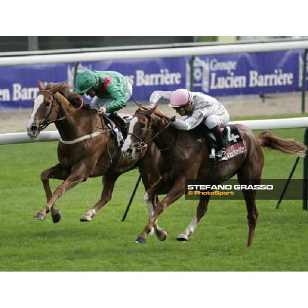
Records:
<instances>
[{"instance_id":1,"label":"green grass turf of the racecourse beneath the horses","mask_svg":"<svg viewBox=\"0 0 308 308\"><path fill-rule=\"evenodd\" d=\"M302 141L303 129L273 131ZM257 133L257 132L256 132ZM147 222L144 188L123 223L121 218L138 173L117 182L112 200L90 223L79 218L101 194L101 179L89 179L68 191L57 207L63 218L32 218L44 205L41 171L55 164L55 142L1 145L0 271L307 271L307 219L302 201L259 200L254 246L248 234L244 201L209 202L207 214L188 242L175 239L195 215L197 200L180 199L160 217L168 232L165 242L155 236L146 245L134 243ZM263 178L286 179L295 157L265 153ZM302 160L294 178L302 178ZM61 182L51 180L54 189Z\"/></svg>"}]
</instances>

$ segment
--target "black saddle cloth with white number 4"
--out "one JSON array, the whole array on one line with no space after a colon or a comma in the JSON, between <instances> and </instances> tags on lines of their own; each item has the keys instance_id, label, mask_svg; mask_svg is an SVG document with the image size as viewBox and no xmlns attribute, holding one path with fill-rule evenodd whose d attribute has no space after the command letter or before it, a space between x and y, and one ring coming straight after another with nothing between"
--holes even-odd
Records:
<instances>
[{"instance_id":1,"label":"black saddle cloth with white number 4","mask_svg":"<svg viewBox=\"0 0 308 308\"><path fill-rule=\"evenodd\" d=\"M215 158L215 150L217 148L216 139L211 132L209 132L207 136L210 149L209 157ZM228 125L224 127L222 131L222 138L226 153L219 161L229 160L247 151L246 147L244 146L241 134L235 125Z\"/></svg>"}]
</instances>

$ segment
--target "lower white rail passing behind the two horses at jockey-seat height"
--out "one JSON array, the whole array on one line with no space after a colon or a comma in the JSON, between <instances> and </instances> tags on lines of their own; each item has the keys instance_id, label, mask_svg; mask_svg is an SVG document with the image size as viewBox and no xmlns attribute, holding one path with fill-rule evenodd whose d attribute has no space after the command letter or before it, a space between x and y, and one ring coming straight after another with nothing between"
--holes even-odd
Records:
<instances>
[{"instance_id":1,"label":"lower white rail passing behind the two horses at jockey-seat height","mask_svg":"<svg viewBox=\"0 0 308 308\"><path fill-rule=\"evenodd\" d=\"M253 130L258 129L279 129L279 128L302 128L308 127L308 118L287 118L269 120L246 120L233 121L231 124L243 124ZM60 135L57 131L42 131L36 139L30 139L26 132L2 133L0 144L29 143L59 141Z\"/></svg>"}]
</instances>

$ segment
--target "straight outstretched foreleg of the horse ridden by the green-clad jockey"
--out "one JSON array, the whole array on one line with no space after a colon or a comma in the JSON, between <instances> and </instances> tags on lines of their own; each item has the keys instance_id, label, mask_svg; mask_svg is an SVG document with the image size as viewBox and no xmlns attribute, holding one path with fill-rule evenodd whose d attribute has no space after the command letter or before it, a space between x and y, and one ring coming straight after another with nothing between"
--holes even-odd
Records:
<instances>
[{"instance_id":1,"label":"straight outstretched foreleg of the horse ridden by the green-clad jockey","mask_svg":"<svg viewBox=\"0 0 308 308\"><path fill-rule=\"evenodd\" d=\"M55 201L60 198L64 192L69 190L70 188L74 187L78 183L84 181L88 178L92 169L89 169L85 163L76 165L72 168L71 174L67 177L67 179L58 186L53 195L51 196L50 200L47 204L34 216L34 218L39 220L44 220L46 218L46 214L50 211L52 205Z\"/></svg>"}]
</instances>

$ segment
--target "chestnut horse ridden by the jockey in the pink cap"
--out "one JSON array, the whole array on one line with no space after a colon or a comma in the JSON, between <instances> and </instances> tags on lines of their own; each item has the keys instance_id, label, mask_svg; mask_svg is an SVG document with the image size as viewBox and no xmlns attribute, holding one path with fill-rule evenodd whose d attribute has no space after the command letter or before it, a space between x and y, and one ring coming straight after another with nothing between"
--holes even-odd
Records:
<instances>
[{"instance_id":1,"label":"chestnut horse ridden by the jockey in the pink cap","mask_svg":"<svg viewBox=\"0 0 308 308\"><path fill-rule=\"evenodd\" d=\"M209 149L204 137L200 137L196 130L181 132L172 127L169 118L161 111L155 110L156 107L149 110L139 108L136 111L131 120L129 136L122 148L123 155L126 158L134 159L137 150L153 140L161 149L164 161L164 169L161 168L162 165L159 166L161 178L145 194L146 202L154 204L155 211L143 232L137 238L137 243L146 242L147 234L158 216L163 213L167 206L185 194L185 179L210 179L215 183L221 183L237 174L240 184L260 184L263 169L261 147L294 153L298 156L305 155L306 146L302 143L281 139L268 131L263 131L256 137L251 129L238 124L236 126L247 151L232 159L216 162L209 159ZM162 190L167 195L161 202L155 204L156 196L160 195ZM243 195L248 213L247 246L251 246L258 218L256 190L243 190ZM199 198L196 216L184 232L178 236L177 240L188 240L197 223L204 216L208 201L209 195Z\"/></svg>"}]
</instances>

